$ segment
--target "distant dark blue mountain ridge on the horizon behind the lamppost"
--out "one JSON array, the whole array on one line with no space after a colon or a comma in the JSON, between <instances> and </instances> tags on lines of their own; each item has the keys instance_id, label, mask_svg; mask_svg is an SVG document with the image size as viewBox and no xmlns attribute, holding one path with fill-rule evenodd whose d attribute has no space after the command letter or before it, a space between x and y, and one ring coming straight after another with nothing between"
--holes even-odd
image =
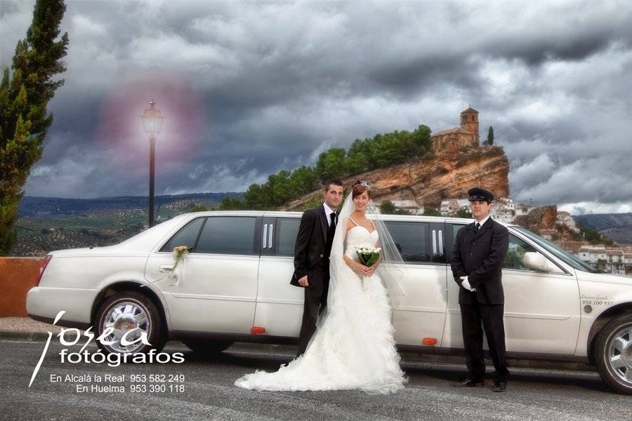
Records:
<instances>
[{"instance_id":1,"label":"distant dark blue mountain ridge on the horizon behind the lamppost","mask_svg":"<svg viewBox=\"0 0 632 421\"><path fill-rule=\"evenodd\" d=\"M242 199L242 192L168 194L155 197L156 208L178 201L220 203L224 196ZM25 196L20 201L20 218L59 218L65 215L85 215L104 210L142 209L149 206L149 196L100 197L98 199L62 199L58 197Z\"/></svg>"}]
</instances>

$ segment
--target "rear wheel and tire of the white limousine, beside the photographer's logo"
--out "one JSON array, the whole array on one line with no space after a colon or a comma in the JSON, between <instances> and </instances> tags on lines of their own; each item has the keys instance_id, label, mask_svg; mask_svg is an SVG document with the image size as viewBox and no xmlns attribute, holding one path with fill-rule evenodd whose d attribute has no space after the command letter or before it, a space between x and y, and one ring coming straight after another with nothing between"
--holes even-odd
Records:
<instances>
[{"instance_id":1,"label":"rear wheel and tire of the white limousine, beside the photographer's logo","mask_svg":"<svg viewBox=\"0 0 632 421\"><path fill-rule=\"evenodd\" d=\"M145 354L152 349L160 352L166 343L163 323L158 308L150 298L135 291L122 291L112 295L100 305L95 323L98 337L107 327L112 327L114 332L107 335L105 340L117 340L117 342L104 345L101 341L97 341L97 345L105 354ZM127 347L121 345L120 340L123 335L134 328L138 328L138 331L128 334L126 339L133 341L139 338L138 333L144 332L150 345L145 345L142 341Z\"/></svg>"}]
</instances>

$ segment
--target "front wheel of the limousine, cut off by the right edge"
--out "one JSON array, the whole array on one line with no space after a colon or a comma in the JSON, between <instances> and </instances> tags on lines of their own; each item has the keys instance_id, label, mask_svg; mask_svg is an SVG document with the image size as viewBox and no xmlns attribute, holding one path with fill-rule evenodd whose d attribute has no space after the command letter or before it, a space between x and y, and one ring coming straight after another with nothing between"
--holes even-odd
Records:
<instances>
[{"instance_id":1,"label":"front wheel of the limousine, cut off by the right edge","mask_svg":"<svg viewBox=\"0 0 632 421\"><path fill-rule=\"evenodd\" d=\"M618 316L604 326L595 346L595 363L612 389L632 395L632 314Z\"/></svg>"}]
</instances>

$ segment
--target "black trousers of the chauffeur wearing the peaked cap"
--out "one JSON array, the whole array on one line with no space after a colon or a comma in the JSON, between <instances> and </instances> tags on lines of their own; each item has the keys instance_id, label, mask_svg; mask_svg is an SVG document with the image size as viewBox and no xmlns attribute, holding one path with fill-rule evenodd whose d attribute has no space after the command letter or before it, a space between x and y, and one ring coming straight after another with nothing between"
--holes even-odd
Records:
<instances>
[{"instance_id":1,"label":"black trousers of the chauffeur wearing the peaked cap","mask_svg":"<svg viewBox=\"0 0 632 421\"><path fill-rule=\"evenodd\" d=\"M505 357L505 326L503 324L503 305L485 305L475 303L461 304L461 324L463 342L466 349L466 364L470 378L476 382L485 377L485 357L482 350L482 326L489 345L489 354L494 362L494 382L507 382L509 370Z\"/></svg>"}]
</instances>

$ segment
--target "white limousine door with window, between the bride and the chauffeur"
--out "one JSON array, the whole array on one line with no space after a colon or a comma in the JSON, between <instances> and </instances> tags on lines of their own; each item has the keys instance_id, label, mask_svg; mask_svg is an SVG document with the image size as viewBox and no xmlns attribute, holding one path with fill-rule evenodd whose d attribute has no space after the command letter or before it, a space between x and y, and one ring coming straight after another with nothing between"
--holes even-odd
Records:
<instances>
[{"instance_id":1,"label":"white limousine door with window, between the bride and the chauffeur","mask_svg":"<svg viewBox=\"0 0 632 421\"><path fill-rule=\"evenodd\" d=\"M386 227L405 264L406 296L393 308L395 340L399 345L438 346L447 307L444 224L397 220L386 221Z\"/></svg>"}]
</instances>

